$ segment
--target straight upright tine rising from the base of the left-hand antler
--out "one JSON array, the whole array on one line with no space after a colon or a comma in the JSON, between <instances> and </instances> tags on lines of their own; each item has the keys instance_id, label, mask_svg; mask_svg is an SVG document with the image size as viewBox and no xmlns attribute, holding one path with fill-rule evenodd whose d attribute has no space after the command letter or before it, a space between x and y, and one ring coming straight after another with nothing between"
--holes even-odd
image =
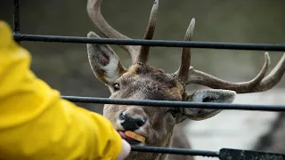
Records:
<instances>
[{"instance_id":1,"label":"straight upright tine rising from the base of the left-hand antler","mask_svg":"<svg viewBox=\"0 0 285 160\"><path fill-rule=\"evenodd\" d=\"M155 0L152 5L150 20L148 23L148 27L145 31L145 34L143 36L143 39L152 39L155 31L158 10L159 10L159 0ZM150 52L150 46L142 46L140 53L138 54L137 60L135 61L142 63L147 62L149 58L149 52Z\"/></svg>"}]
</instances>

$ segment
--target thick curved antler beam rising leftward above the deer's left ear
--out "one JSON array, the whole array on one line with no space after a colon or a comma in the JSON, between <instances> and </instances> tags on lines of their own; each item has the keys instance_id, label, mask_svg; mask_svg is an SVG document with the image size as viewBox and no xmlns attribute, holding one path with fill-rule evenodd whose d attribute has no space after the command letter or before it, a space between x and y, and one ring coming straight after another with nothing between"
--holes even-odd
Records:
<instances>
[{"instance_id":1,"label":"thick curved antler beam rising leftward above the deer's left ear","mask_svg":"<svg viewBox=\"0 0 285 160\"><path fill-rule=\"evenodd\" d=\"M131 39L128 36L125 36L119 33L116 29L112 28L109 23L103 18L101 13L101 4L102 0L88 0L87 2L87 12L90 19L94 22L95 26L104 34L104 36L110 38L124 38ZM126 52L129 52L134 62L137 57L140 46L133 45L120 45Z\"/></svg>"}]
</instances>

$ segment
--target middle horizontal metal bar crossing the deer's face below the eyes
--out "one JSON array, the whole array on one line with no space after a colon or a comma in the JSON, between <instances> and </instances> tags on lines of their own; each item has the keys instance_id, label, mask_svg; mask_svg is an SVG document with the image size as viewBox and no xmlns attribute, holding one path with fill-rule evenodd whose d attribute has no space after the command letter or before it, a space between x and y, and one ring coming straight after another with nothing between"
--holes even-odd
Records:
<instances>
[{"instance_id":1,"label":"middle horizontal metal bar crossing the deer's face below the eyes","mask_svg":"<svg viewBox=\"0 0 285 160\"><path fill-rule=\"evenodd\" d=\"M285 111L284 105L249 105L249 104L230 104L230 103L203 103L191 101L168 101L168 100L118 100L108 98L61 96L65 100L81 103L100 103L100 104L120 104L151 107L176 107L176 108L221 108L232 110L262 110L262 111Z\"/></svg>"}]
</instances>

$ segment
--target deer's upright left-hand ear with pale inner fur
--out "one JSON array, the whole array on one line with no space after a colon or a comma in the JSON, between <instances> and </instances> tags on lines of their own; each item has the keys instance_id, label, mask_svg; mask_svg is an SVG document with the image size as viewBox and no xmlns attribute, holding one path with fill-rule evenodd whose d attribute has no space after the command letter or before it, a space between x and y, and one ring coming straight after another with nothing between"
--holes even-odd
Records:
<instances>
[{"instance_id":1,"label":"deer's upright left-hand ear with pale inner fur","mask_svg":"<svg viewBox=\"0 0 285 160\"><path fill-rule=\"evenodd\" d=\"M100 38L94 32L89 32L87 37ZM94 75L105 84L113 84L126 72L118 55L107 44L87 44L87 53Z\"/></svg>"}]
</instances>

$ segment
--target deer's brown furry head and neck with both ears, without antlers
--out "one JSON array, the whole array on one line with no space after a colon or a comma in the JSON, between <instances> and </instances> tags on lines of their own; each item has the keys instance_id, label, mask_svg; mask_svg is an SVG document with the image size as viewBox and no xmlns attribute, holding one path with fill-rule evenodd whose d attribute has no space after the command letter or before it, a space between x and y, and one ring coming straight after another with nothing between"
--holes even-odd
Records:
<instances>
[{"instance_id":1,"label":"deer's brown furry head and neck with both ears, without antlers","mask_svg":"<svg viewBox=\"0 0 285 160\"><path fill-rule=\"evenodd\" d=\"M90 32L88 37L99 36ZM188 95L180 77L165 73L162 69L153 68L147 63L136 62L126 69L118 59L118 55L106 44L87 44L87 52L94 75L109 87L111 99L195 100L199 102L204 100L232 102L234 99L235 92L226 90L204 90L194 92L192 96ZM221 110L203 108L159 108L114 104L105 104L103 108L103 116L110 119L116 130L126 131L121 124L120 117L122 115L132 119L133 123L135 119L141 119L143 120L142 125L133 131L146 138L145 143L140 145L166 148L171 145L175 124L179 124L187 118L207 119L220 112ZM127 125L129 126L125 127L134 124ZM175 134L175 136L179 136L179 134ZM184 148L190 146L181 143L181 141L173 142L174 145L177 143L183 144ZM171 156L171 158L174 157ZM167 154L132 152L127 159L166 160Z\"/></svg>"}]
</instances>

